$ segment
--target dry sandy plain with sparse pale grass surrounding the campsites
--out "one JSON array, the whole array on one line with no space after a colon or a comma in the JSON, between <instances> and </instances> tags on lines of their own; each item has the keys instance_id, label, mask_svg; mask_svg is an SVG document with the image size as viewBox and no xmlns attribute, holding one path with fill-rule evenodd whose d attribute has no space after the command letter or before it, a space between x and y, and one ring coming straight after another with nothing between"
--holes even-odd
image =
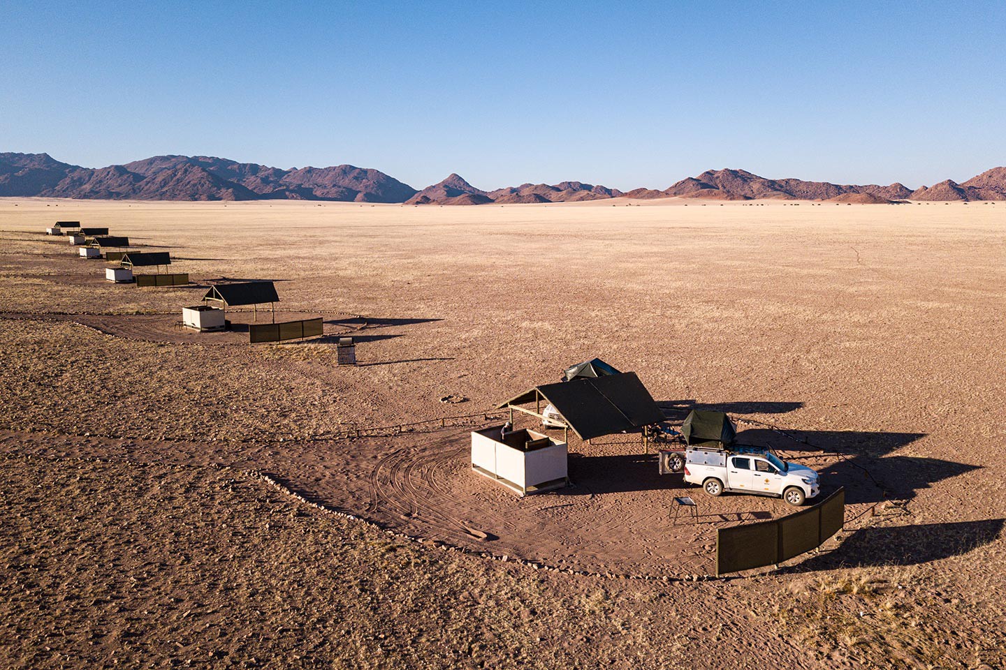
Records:
<instances>
[{"instance_id":1,"label":"dry sandy plain with sparse pale grass surrounding the campsites","mask_svg":"<svg viewBox=\"0 0 1006 670\"><path fill-rule=\"evenodd\" d=\"M0 201L0 663L1006 663L1006 205L625 205ZM39 234L63 219L196 281L280 280L280 315L352 332L361 365L187 334L198 289L105 282ZM673 525L680 478L619 439L572 441L576 488L523 500L468 471L465 426L328 439L594 356L672 416L842 454L811 462L850 530L693 581L717 525L786 505L698 493L703 523Z\"/></svg>"}]
</instances>

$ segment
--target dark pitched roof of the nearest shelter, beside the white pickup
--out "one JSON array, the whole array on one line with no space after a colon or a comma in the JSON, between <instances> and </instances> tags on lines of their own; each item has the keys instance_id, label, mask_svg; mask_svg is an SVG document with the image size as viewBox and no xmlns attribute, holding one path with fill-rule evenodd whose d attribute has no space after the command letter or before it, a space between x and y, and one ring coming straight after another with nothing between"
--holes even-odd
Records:
<instances>
[{"instance_id":1,"label":"dark pitched roof of the nearest shelter, beside the white pickup","mask_svg":"<svg viewBox=\"0 0 1006 670\"><path fill-rule=\"evenodd\" d=\"M511 398L496 409L534 402L538 396L562 415L581 440L621 433L664 420L653 397L636 373L580 377L545 384Z\"/></svg>"}]
</instances>

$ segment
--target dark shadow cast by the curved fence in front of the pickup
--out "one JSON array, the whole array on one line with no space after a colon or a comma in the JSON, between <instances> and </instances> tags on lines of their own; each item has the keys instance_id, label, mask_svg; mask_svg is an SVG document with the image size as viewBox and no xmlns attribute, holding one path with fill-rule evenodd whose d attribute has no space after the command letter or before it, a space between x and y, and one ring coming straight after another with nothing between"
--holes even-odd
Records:
<instances>
[{"instance_id":1,"label":"dark shadow cast by the curved fence in front of the pickup","mask_svg":"<svg viewBox=\"0 0 1006 670\"><path fill-rule=\"evenodd\" d=\"M917 566L949 559L995 540L1006 519L921 523L856 530L837 548L781 572L804 573L837 568Z\"/></svg>"}]
</instances>

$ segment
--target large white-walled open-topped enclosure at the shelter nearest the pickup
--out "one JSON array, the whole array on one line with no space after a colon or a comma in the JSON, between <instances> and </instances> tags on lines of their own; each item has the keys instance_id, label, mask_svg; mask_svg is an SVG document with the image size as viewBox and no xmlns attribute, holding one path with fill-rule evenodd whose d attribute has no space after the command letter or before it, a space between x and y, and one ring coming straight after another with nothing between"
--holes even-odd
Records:
<instances>
[{"instance_id":1,"label":"large white-walled open-topped enclosure at the shelter nearest the pickup","mask_svg":"<svg viewBox=\"0 0 1006 670\"><path fill-rule=\"evenodd\" d=\"M568 485L565 442L502 426L472 432L472 470L520 495Z\"/></svg>"}]
</instances>

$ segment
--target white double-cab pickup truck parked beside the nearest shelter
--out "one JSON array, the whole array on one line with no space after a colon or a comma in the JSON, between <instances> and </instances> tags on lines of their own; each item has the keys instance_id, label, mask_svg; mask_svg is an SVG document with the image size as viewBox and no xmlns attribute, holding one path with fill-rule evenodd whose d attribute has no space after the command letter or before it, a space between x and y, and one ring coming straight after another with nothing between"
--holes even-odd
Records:
<instances>
[{"instance_id":1,"label":"white double-cab pickup truck parked beside the nearest shelter","mask_svg":"<svg viewBox=\"0 0 1006 670\"><path fill-rule=\"evenodd\" d=\"M821 492L817 472L769 452L689 449L685 452L684 479L701 484L709 495L723 491L773 495L798 506Z\"/></svg>"}]
</instances>

